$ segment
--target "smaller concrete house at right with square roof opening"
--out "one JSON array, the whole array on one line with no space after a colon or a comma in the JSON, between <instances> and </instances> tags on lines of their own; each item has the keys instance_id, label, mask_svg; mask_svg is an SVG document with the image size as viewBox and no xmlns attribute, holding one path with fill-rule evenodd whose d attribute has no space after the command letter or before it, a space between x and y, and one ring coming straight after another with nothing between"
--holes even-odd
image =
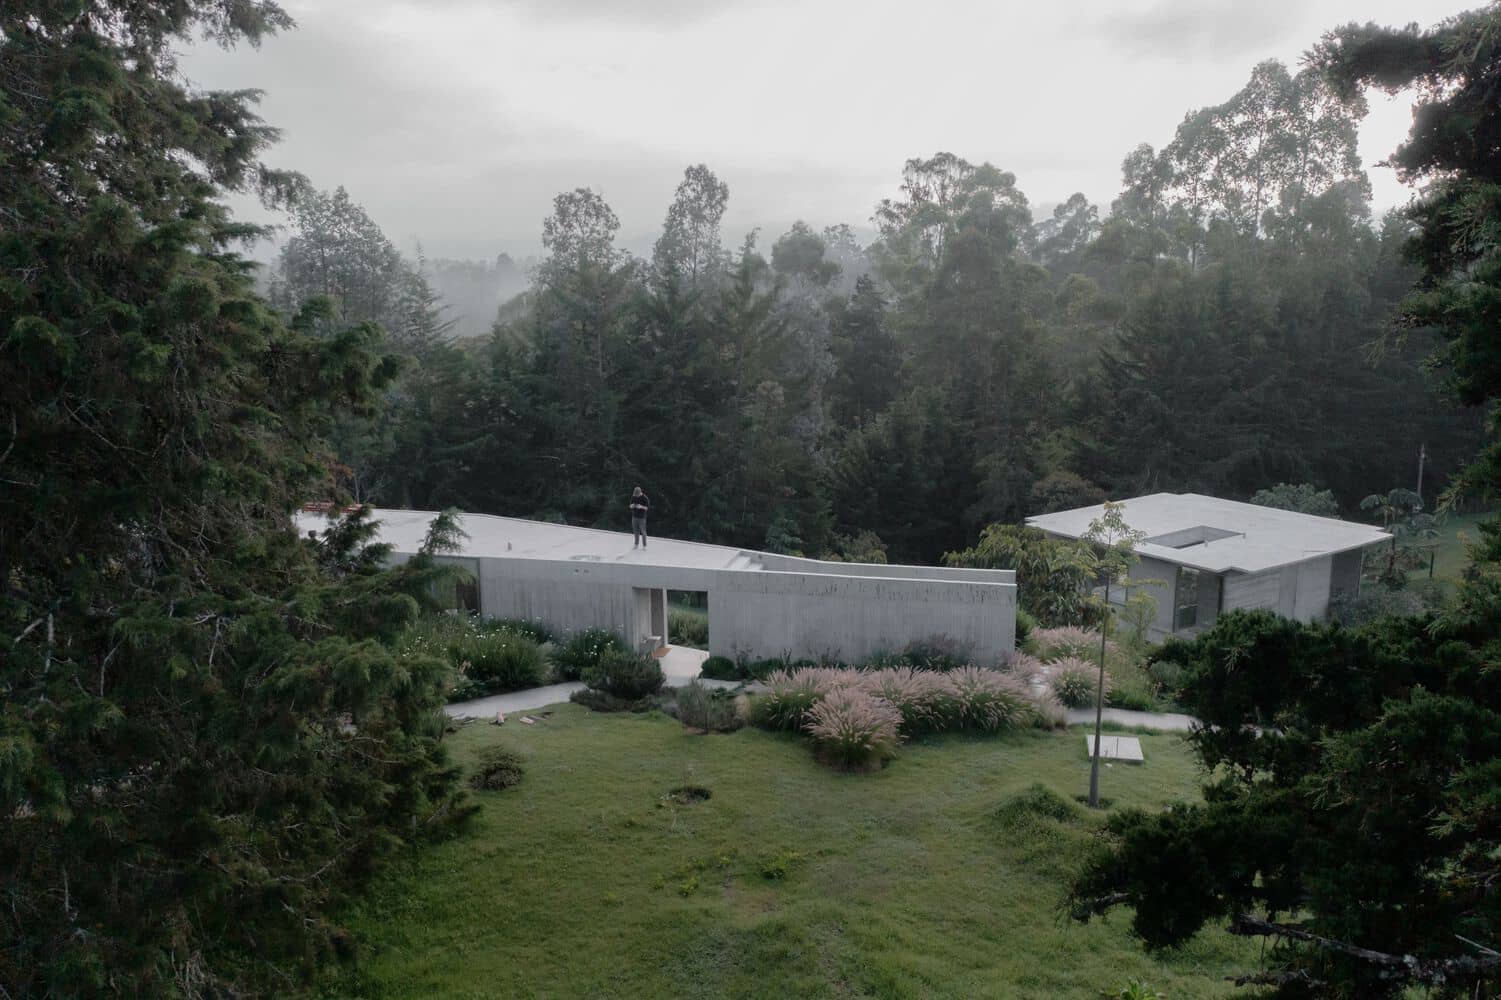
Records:
<instances>
[{"instance_id":1,"label":"smaller concrete house at right with square roof opening","mask_svg":"<svg viewBox=\"0 0 1501 1000\"><path fill-rule=\"evenodd\" d=\"M1130 575L1156 581L1147 584L1157 599L1154 640L1193 635L1232 608L1324 620L1331 599L1360 593L1361 553L1391 541L1369 524L1195 492L1154 492L1123 505L1126 524L1147 533ZM1078 539L1103 512L1103 505L1060 511L1027 524Z\"/></svg>"}]
</instances>

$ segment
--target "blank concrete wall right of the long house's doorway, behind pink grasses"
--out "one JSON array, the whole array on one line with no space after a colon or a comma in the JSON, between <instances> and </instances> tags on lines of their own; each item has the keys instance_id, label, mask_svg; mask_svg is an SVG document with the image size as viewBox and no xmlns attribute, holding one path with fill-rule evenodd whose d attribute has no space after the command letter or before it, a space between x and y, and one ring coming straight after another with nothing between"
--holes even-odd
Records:
<instances>
[{"instance_id":1,"label":"blank concrete wall right of the long house's doorway, behind pink grasses","mask_svg":"<svg viewBox=\"0 0 1501 1000\"><path fill-rule=\"evenodd\" d=\"M860 661L943 637L976 662L1016 644L1016 587L830 574L723 572L708 589L708 646L720 656Z\"/></svg>"}]
</instances>

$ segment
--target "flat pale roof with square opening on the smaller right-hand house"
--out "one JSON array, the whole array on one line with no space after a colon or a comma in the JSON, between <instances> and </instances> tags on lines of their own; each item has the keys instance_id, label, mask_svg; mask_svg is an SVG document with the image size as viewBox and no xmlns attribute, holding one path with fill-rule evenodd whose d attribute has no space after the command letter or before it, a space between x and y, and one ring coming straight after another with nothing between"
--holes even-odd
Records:
<instances>
[{"instance_id":1,"label":"flat pale roof with square opening on the smaller right-hand house","mask_svg":"<svg viewBox=\"0 0 1501 1000\"><path fill-rule=\"evenodd\" d=\"M1154 492L1120 503L1126 524L1147 533L1148 541L1136 547L1139 556L1214 574L1258 574L1391 541L1390 535L1370 524L1196 492ZM1049 535L1082 538L1090 521L1102 514L1105 505L1096 505L1042 514L1027 518L1027 524Z\"/></svg>"}]
</instances>

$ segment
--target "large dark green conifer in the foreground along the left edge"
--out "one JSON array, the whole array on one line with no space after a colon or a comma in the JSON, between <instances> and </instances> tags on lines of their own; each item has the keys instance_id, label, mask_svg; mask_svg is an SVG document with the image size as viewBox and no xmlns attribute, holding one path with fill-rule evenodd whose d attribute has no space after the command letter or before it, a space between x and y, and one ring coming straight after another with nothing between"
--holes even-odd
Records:
<instances>
[{"instance_id":1,"label":"large dark green conifer in the foreground along the left edge","mask_svg":"<svg viewBox=\"0 0 1501 1000\"><path fill-rule=\"evenodd\" d=\"M276 992L329 913L459 809L437 661L389 646L431 560L299 538L321 435L395 372L284 323L227 191L281 197L252 93L170 47L275 3L0 8L0 992ZM326 311L324 311L326 312Z\"/></svg>"}]
</instances>

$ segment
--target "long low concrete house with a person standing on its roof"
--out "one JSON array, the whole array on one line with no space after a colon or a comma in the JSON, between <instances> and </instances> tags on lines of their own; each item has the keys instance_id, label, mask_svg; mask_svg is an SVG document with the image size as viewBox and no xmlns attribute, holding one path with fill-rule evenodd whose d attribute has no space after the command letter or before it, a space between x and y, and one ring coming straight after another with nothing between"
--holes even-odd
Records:
<instances>
[{"instance_id":1,"label":"long low concrete house with a person standing on its roof","mask_svg":"<svg viewBox=\"0 0 1501 1000\"><path fill-rule=\"evenodd\" d=\"M432 511L372 512L377 541L396 560L417 553ZM324 514L297 515L302 533ZM982 664L1015 649L1016 577L1000 569L830 563L624 532L465 514L464 607L552 628L606 628L636 649L666 643L668 590L708 595L710 652L752 659L790 655L859 661L943 637Z\"/></svg>"}]
</instances>

